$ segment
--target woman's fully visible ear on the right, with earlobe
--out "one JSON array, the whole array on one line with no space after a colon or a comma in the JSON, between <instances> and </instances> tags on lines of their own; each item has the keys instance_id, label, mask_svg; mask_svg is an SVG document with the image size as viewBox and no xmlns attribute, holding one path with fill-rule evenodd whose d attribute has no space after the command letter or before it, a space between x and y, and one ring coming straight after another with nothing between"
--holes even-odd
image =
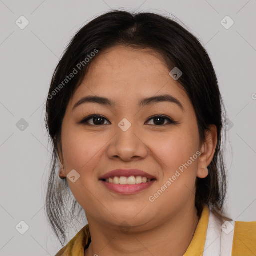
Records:
<instances>
[{"instance_id":1,"label":"woman's fully visible ear on the right, with earlobe","mask_svg":"<svg viewBox=\"0 0 256 256\"><path fill-rule=\"evenodd\" d=\"M217 127L214 124L209 126L209 129L205 131L205 141L200 149L200 156L198 162L197 177L205 178L208 175L208 169L217 145Z\"/></svg>"}]
</instances>

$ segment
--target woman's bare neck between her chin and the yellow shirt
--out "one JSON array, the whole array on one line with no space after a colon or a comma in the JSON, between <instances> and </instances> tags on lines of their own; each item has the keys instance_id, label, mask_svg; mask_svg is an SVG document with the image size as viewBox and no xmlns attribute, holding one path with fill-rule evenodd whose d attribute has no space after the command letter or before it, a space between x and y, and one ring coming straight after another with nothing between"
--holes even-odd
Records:
<instances>
[{"instance_id":1,"label":"woman's bare neck between her chin and the yellow shirt","mask_svg":"<svg viewBox=\"0 0 256 256\"><path fill-rule=\"evenodd\" d=\"M91 243L85 250L85 256L182 256L193 238L199 221L194 205L182 208L171 219L142 232L124 233L102 226L91 216L87 215L87 219Z\"/></svg>"}]
</instances>

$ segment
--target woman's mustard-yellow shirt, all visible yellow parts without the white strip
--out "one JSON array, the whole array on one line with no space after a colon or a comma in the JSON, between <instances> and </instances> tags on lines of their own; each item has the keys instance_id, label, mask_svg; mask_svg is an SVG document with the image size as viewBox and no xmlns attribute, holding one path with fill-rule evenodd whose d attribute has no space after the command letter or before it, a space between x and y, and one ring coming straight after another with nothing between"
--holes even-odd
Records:
<instances>
[{"instance_id":1,"label":"woman's mustard-yellow shirt, all visible yellow parts without the white strip","mask_svg":"<svg viewBox=\"0 0 256 256\"><path fill-rule=\"evenodd\" d=\"M205 205L191 243L183 256L204 256L209 223L209 207ZM55 256L84 256L85 246L91 241L89 226L85 225ZM224 246L224 245L221 245ZM232 253L230 256L256 255L256 221L234 221ZM221 255L222 256L222 255Z\"/></svg>"}]
</instances>

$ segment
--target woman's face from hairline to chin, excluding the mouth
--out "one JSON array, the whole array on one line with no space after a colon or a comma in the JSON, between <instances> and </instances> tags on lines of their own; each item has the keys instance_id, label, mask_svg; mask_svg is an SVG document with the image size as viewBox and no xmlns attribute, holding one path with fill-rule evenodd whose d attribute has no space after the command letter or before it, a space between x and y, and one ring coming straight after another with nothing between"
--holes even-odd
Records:
<instances>
[{"instance_id":1,"label":"woman's face from hairline to chin, excluding the mouth","mask_svg":"<svg viewBox=\"0 0 256 256\"><path fill-rule=\"evenodd\" d=\"M116 229L126 221L146 229L194 206L196 176L207 173L198 168L201 148L193 106L169 71L156 52L116 46L98 53L70 99L62 123L61 162L65 176L72 170L75 182L67 181L88 221ZM139 104L162 95L181 105L166 99ZM113 104L74 107L86 96ZM134 168L155 177L135 193L113 191L99 180L111 170Z\"/></svg>"}]
</instances>

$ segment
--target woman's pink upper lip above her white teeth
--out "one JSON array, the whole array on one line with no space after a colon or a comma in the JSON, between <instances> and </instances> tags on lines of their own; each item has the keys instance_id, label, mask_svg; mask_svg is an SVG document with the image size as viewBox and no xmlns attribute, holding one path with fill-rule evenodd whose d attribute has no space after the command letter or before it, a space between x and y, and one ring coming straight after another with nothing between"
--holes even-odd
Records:
<instances>
[{"instance_id":1,"label":"woman's pink upper lip above her white teeth","mask_svg":"<svg viewBox=\"0 0 256 256\"><path fill-rule=\"evenodd\" d=\"M107 179L114 176L130 177L130 176L142 176L149 179L156 179L153 175L139 169L115 169L105 173L99 179Z\"/></svg>"}]
</instances>

